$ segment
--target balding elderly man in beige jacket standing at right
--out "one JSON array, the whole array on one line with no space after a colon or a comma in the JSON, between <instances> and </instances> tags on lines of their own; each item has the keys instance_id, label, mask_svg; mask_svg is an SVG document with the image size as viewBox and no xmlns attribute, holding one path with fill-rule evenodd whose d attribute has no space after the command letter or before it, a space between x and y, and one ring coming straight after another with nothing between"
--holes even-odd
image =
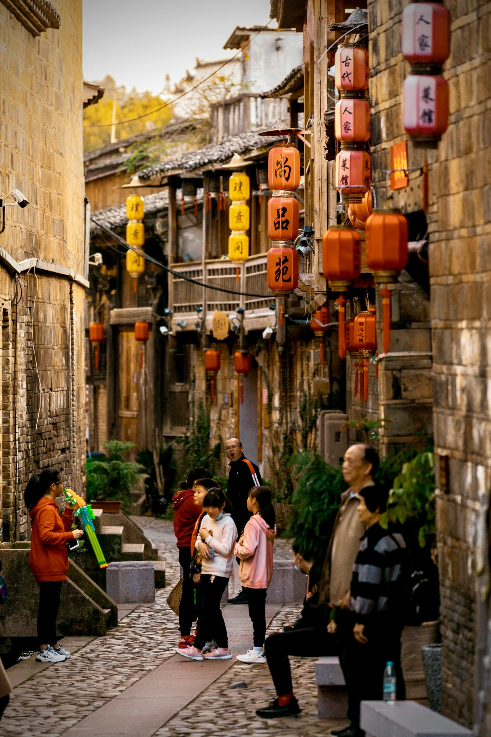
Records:
<instances>
[{"instance_id":1,"label":"balding elderly man in beige jacket standing at right","mask_svg":"<svg viewBox=\"0 0 491 737\"><path fill-rule=\"evenodd\" d=\"M331 535L328 552L322 570L319 602L336 608L336 622L331 621L329 632L337 629L339 641L339 663L346 684L350 681L350 651L353 648L353 621L349 610L351 571L360 548L360 539L365 528L358 520L356 508L360 503L358 492L365 486L375 486L373 476L378 470L378 453L372 446L357 443L350 446L343 460L343 476L350 488L341 496L341 505ZM356 705L358 708L358 704ZM348 704L348 719L356 723ZM333 735L354 737L355 730L333 730Z\"/></svg>"}]
</instances>

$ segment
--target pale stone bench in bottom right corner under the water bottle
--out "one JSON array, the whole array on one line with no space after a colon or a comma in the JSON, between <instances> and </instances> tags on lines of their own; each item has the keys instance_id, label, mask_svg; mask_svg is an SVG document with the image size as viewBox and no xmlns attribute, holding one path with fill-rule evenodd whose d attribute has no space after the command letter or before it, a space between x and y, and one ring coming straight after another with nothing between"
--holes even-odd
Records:
<instances>
[{"instance_id":1,"label":"pale stone bench in bottom right corner under the water bottle","mask_svg":"<svg viewBox=\"0 0 491 737\"><path fill-rule=\"evenodd\" d=\"M414 701L362 701L360 726L366 737L472 737L446 716Z\"/></svg>"}]
</instances>

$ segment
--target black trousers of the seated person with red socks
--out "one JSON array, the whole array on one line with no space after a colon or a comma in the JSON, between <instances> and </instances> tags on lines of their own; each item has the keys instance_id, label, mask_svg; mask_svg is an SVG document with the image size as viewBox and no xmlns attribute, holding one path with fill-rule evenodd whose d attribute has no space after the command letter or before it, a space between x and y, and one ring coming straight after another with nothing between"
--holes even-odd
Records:
<instances>
[{"instance_id":1,"label":"black trousers of the seated person with red socks","mask_svg":"<svg viewBox=\"0 0 491 737\"><path fill-rule=\"evenodd\" d=\"M317 627L301 627L288 632L275 632L264 643L264 652L278 696L292 691L289 655L321 657L337 655L334 635L328 635L328 623Z\"/></svg>"}]
</instances>

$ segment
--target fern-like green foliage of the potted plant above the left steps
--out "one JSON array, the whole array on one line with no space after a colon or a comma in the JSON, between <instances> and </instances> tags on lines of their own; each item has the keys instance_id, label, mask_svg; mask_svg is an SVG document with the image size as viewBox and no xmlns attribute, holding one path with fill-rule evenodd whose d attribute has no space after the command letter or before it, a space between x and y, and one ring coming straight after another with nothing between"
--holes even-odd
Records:
<instances>
[{"instance_id":1,"label":"fern-like green foliage of the potted plant above the left steps","mask_svg":"<svg viewBox=\"0 0 491 737\"><path fill-rule=\"evenodd\" d=\"M130 491L139 481L141 464L125 461L124 456L135 444L110 440L102 445L107 450L107 460L93 461L87 470L87 498L99 501L118 499L125 509L129 509L132 503Z\"/></svg>"}]
</instances>

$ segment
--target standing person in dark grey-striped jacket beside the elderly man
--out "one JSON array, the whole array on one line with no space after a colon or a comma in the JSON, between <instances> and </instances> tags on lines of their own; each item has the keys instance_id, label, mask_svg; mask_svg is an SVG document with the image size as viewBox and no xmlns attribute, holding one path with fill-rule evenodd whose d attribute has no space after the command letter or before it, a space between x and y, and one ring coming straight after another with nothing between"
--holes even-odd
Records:
<instances>
[{"instance_id":1,"label":"standing person in dark grey-striped jacket beside the elderly man","mask_svg":"<svg viewBox=\"0 0 491 737\"><path fill-rule=\"evenodd\" d=\"M359 704L381 701L384 668L392 660L397 677L398 700L406 698L400 668L400 634L403 629L401 573L406 558L406 542L398 532L384 530L379 524L385 511L387 494L380 486L365 486L358 517L366 526L361 538L350 586L350 611L353 614L353 666L357 677L348 688L350 705L358 704L353 713L358 722L350 725L343 737L361 737Z\"/></svg>"}]
</instances>

